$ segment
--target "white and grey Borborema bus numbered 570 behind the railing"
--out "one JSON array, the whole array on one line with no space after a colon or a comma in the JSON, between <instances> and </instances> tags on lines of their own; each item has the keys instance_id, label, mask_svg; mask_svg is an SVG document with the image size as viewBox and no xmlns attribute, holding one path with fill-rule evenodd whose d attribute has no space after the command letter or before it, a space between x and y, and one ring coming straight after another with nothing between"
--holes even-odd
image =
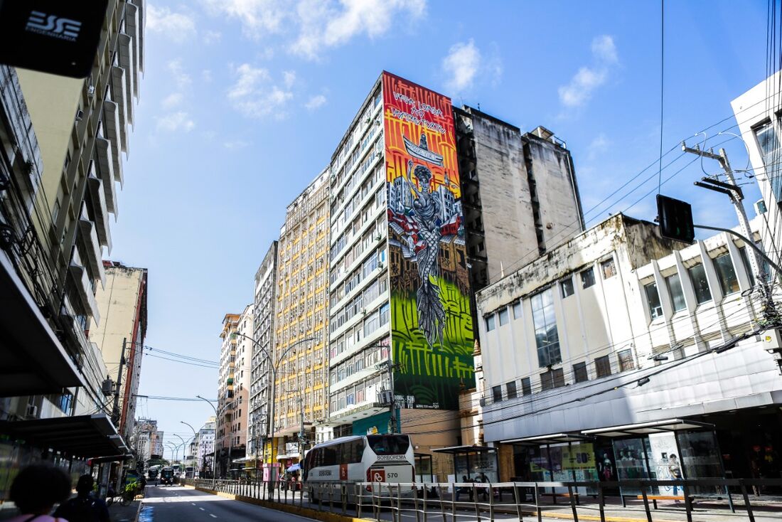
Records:
<instances>
[{"instance_id":1,"label":"white and grey Borborema bus numbered 570 behind the railing","mask_svg":"<svg viewBox=\"0 0 782 522\"><path fill-rule=\"evenodd\" d=\"M310 502L317 502L318 496L330 495L329 489L322 488L328 483L349 486L358 482L411 484L415 481L415 460L410 436L354 435L315 445L304 457L302 480L310 494ZM400 488L404 495L414 489L411 485ZM338 491L334 490L334 500L339 499ZM385 488L381 491L382 495L387 495ZM348 488L348 500L355 501L355 488Z\"/></svg>"}]
</instances>

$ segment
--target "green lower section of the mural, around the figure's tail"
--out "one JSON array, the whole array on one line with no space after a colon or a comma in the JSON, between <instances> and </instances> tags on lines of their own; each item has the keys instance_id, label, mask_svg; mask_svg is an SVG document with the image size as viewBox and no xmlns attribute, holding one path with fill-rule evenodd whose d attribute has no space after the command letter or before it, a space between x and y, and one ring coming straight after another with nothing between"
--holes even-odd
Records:
<instances>
[{"instance_id":1,"label":"green lower section of the mural, around the figure's tail","mask_svg":"<svg viewBox=\"0 0 782 522\"><path fill-rule=\"evenodd\" d=\"M391 291L391 339L396 402L403 408L458 409L458 392L475 387L470 300L438 277L446 314L443 343L430 347L418 328L415 290Z\"/></svg>"}]
</instances>

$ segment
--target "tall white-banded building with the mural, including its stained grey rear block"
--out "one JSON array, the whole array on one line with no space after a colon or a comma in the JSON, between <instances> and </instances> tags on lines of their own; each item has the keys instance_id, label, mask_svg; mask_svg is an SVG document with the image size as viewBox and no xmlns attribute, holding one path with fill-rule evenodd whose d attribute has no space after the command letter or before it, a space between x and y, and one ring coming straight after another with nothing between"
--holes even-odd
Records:
<instances>
[{"instance_id":1,"label":"tall white-banded building with the mural, including its stained grey rear block","mask_svg":"<svg viewBox=\"0 0 782 522\"><path fill-rule=\"evenodd\" d=\"M457 445L472 287L583 229L570 154L384 72L332 156L331 192L333 434Z\"/></svg>"}]
</instances>

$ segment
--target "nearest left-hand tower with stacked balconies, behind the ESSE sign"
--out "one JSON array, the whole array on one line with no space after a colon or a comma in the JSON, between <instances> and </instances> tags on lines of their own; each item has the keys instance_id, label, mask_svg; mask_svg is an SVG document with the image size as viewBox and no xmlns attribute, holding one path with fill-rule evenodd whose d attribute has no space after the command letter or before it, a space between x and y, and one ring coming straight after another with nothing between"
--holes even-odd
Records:
<instances>
[{"instance_id":1,"label":"nearest left-hand tower with stacked balconies, behind the ESSE sign","mask_svg":"<svg viewBox=\"0 0 782 522\"><path fill-rule=\"evenodd\" d=\"M46 418L23 436L9 423L0 428L5 440L41 440L56 418L65 422L107 401L106 363L88 331L100 319L95 292L106 277L102 249L111 246L120 152L127 152L143 70L144 12L143 0L109 2L92 74L84 80L9 67L0 72L0 139L7 151L0 162L0 295L9 311L4 329L13 339L0 348L0 364L18 368L2 379L0 418ZM127 451L122 439L106 437L114 430L108 419L81 419L92 436L48 447L84 457Z\"/></svg>"}]
</instances>

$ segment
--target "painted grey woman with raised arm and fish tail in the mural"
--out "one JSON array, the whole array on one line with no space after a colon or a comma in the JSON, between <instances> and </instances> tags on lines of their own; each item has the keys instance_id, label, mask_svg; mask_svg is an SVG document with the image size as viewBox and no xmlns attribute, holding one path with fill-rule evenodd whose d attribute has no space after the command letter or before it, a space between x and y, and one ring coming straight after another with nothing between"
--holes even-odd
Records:
<instances>
[{"instance_id":1,"label":"painted grey woman with raised arm and fish tail in the mural","mask_svg":"<svg viewBox=\"0 0 782 522\"><path fill-rule=\"evenodd\" d=\"M436 277L439 273L437 256L442 231L439 221L440 202L430 190L432 171L424 165L417 165L413 170L413 160L407 161L407 184L413 194L413 214L411 218L418 225L418 247L415 249L415 263L418 265L418 276L421 286L418 287L418 328L424 333L429 346L443 342L445 327L445 308L440 301L439 286ZM411 178L418 181L418 189Z\"/></svg>"}]
</instances>

